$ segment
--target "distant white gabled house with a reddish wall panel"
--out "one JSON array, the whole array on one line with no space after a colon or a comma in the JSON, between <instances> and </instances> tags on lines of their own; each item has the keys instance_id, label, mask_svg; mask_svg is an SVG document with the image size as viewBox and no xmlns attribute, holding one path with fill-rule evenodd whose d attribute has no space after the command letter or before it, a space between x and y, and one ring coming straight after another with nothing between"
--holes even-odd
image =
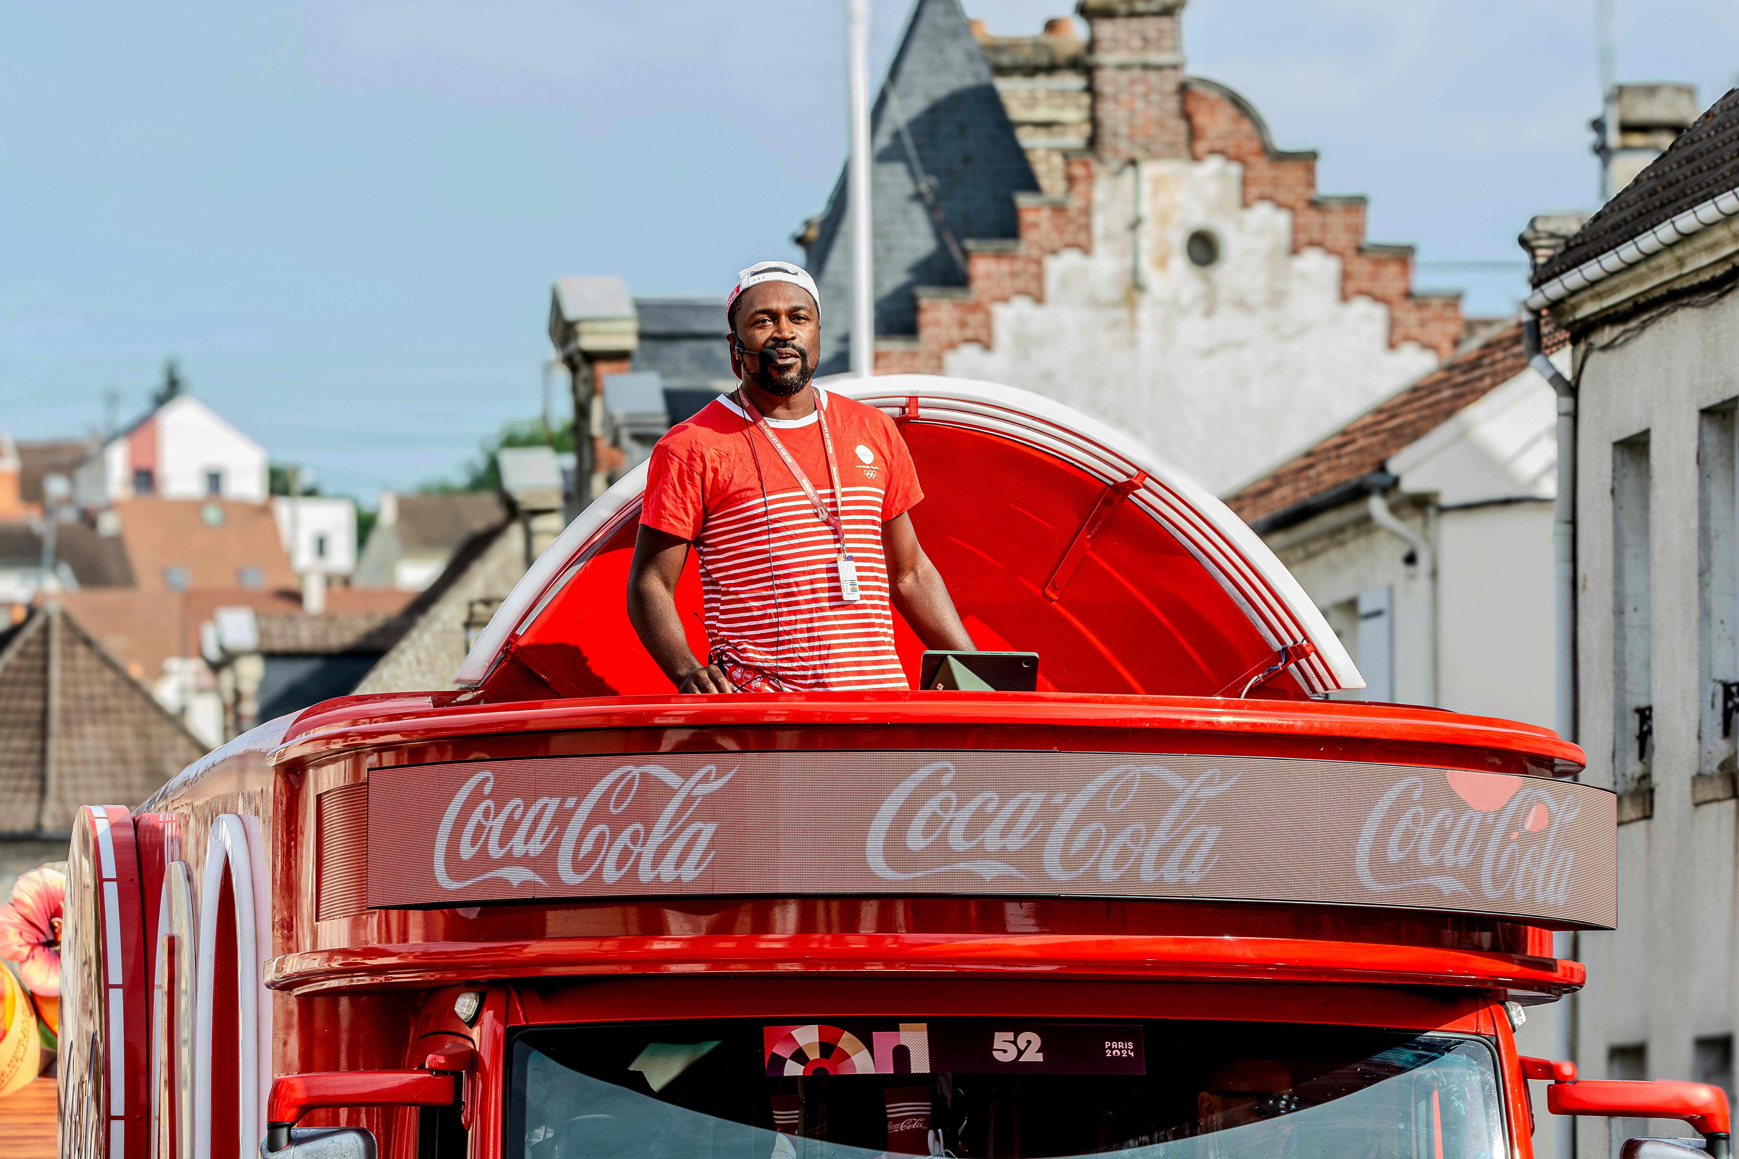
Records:
<instances>
[{"instance_id":1,"label":"distant white gabled house with a reddish wall panel","mask_svg":"<svg viewBox=\"0 0 1739 1159\"><path fill-rule=\"evenodd\" d=\"M75 487L85 509L146 495L266 502L266 448L177 394L92 452Z\"/></svg>"}]
</instances>

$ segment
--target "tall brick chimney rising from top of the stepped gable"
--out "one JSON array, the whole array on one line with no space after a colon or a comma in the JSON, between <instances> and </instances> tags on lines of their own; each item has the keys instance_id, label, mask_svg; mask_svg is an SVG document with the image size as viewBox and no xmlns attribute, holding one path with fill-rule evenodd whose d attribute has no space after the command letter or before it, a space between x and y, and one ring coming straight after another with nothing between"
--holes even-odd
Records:
<instances>
[{"instance_id":1,"label":"tall brick chimney rising from top of the stepped gable","mask_svg":"<svg viewBox=\"0 0 1739 1159\"><path fill-rule=\"evenodd\" d=\"M1094 151L1106 162L1188 160L1184 0L1080 0L1090 30Z\"/></svg>"}]
</instances>

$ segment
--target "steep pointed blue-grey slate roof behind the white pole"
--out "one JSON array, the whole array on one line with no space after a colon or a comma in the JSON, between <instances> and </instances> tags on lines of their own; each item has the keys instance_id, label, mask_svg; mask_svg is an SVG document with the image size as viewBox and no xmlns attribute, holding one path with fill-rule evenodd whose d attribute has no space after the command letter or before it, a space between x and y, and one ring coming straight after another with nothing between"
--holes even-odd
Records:
<instances>
[{"instance_id":1,"label":"steep pointed blue-grey slate roof behind the white pole","mask_svg":"<svg viewBox=\"0 0 1739 1159\"><path fill-rule=\"evenodd\" d=\"M870 153L876 334L916 334L913 288L967 283L943 228L962 247L969 238L1016 238L1014 195L1038 189L960 0L916 0L871 109ZM941 224L922 196L920 167L934 182ZM842 372L850 361L845 210L842 167L807 257L821 287L821 374Z\"/></svg>"}]
</instances>

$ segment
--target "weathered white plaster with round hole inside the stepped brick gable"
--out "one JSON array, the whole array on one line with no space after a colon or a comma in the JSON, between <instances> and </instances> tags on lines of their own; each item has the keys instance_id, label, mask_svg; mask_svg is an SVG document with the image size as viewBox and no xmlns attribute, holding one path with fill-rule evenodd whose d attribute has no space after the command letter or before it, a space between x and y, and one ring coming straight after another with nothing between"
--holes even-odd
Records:
<instances>
[{"instance_id":1,"label":"weathered white plaster with round hole inside the stepped brick gable","mask_svg":"<svg viewBox=\"0 0 1739 1159\"><path fill-rule=\"evenodd\" d=\"M1203 228L1221 250L1205 269L1184 255ZM949 351L946 372L1076 407L1214 493L1436 365L1416 342L1391 349L1388 308L1343 301L1341 259L1294 254L1292 214L1245 207L1243 167L1223 156L1101 172L1094 252L1047 257L1045 301L995 304L989 349Z\"/></svg>"}]
</instances>

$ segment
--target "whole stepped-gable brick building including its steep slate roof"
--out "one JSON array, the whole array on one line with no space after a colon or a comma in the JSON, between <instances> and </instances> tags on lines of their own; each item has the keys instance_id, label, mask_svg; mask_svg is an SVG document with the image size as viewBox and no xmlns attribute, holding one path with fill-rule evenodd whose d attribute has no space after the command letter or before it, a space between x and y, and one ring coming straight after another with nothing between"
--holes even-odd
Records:
<instances>
[{"instance_id":1,"label":"whole stepped-gable brick building including its steep slate roof","mask_svg":"<svg viewBox=\"0 0 1739 1159\"><path fill-rule=\"evenodd\" d=\"M1224 492L1449 358L1454 295L1365 240L1231 89L1184 73L1184 0L1082 0L989 36L916 0L871 118L878 372L1023 386ZM798 242L823 370L849 349L845 184ZM1226 440L1229 421L1238 438Z\"/></svg>"}]
</instances>

